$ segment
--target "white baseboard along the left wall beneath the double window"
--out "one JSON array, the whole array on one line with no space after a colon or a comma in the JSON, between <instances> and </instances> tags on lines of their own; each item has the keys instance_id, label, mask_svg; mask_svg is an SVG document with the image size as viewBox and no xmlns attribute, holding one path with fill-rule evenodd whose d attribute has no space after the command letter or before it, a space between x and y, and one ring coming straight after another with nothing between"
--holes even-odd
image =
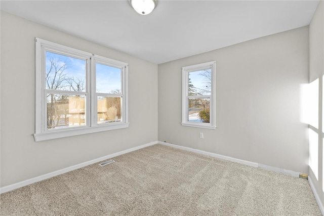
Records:
<instances>
[{"instance_id":1,"label":"white baseboard along the left wall beneath the double window","mask_svg":"<svg viewBox=\"0 0 324 216\"><path fill-rule=\"evenodd\" d=\"M57 170L57 171L54 171L54 172L50 172L50 173L47 173L47 174L44 174L44 175L39 175L37 177L33 177L33 178L27 179L25 181L19 182L19 183L8 185L8 186L0 188L0 194L8 192L8 191L15 190L17 188L24 187L26 185L36 183L36 182L39 182L39 181L43 181L43 180L45 180L47 178L63 174L65 172L69 172L69 171L72 171L74 169L82 168L82 167L88 166L90 164L98 163L98 162L103 161L103 160L107 160L107 159L110 159L110 158L113 158L113 157L116 157L116 156L119 156L119 155L123 155L123 154L133 152L133 151L136 151L136 150L148 147L148 146L152 146L152 145L155 145L156 143L157 143L157 141L150 142L150 143L144 144L142 146L134 147L134 148L127 149L127 150L117 152L117 153L113 153L113 154L110 154L110 155L107 155L107 156L104 156L104 157L101 157L101 158L97 158L97 159L94 159L94 160L91 160L91 161L76 164L74 166L70 166L70 167L60 169L60 170Z\"/></svg>"}]
</instances>

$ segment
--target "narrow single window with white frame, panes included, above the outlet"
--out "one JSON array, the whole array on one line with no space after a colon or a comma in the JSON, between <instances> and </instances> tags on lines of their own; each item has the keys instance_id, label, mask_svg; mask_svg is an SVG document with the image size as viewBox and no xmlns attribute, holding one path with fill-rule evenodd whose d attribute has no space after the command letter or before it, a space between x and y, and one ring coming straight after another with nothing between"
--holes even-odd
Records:
<instances>
[{"instance_id":1,"label":"narrow single window with white frame, panes included, above the outlet","mask_svg":"<svg viewBox=\"0 0 324 216\"><path fill-rule=\"evenodd\" d=\"M216 62L182 67L182 125L215 129Z\"/></svg>"}]
</instances>

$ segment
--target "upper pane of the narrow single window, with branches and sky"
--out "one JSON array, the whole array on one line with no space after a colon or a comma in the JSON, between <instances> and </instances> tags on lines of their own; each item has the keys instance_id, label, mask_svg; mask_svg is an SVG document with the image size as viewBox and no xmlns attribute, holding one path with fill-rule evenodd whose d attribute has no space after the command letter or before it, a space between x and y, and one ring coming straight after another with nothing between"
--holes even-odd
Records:
<instances>
[{"instance_id":1,"label":"upper pane of the narrow single window, with branches and sky","mask_svg":"<svg viewBox=\"0 0 324 216\"><path fill-rule=\"evenodd\" d=\"M211 95L212 70L198 70L188 73L188 93L190 95Z\"/></svg>"}]
</instances>

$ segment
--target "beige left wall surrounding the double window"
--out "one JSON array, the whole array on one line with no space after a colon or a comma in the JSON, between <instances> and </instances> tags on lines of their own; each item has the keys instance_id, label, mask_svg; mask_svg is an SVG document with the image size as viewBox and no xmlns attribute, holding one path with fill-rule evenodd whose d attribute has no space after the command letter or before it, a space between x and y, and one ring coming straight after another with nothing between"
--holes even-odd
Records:
<instances>
[{"instance_id":1,"label":"beige left wall surrounding the double window","mask_svg":"<svg viewBox=\"0 0 324 216\"><path fill-rule=\"evenodd\" d=\"M38 37L129 63L126 129L35 142ZM157 65L1 12L1 187L157 140Z\"/></svg>"}]
</instances>

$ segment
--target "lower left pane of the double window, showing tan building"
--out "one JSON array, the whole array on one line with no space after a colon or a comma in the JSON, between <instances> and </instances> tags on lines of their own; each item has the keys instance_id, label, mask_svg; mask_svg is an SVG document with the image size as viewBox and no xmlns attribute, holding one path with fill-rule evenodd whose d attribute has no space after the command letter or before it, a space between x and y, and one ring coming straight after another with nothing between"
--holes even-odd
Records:
<instances>
[{"instance_id":1,"label":"lower left pane of the double window, showing tan building","mask_svg":"<svg viewBox=\"0 0 324 216\"><path fill-rule=\"evenodd\" d=\"M86 96L47 94L47 128L86 125Z\"/></svg>"}]
</instances>

